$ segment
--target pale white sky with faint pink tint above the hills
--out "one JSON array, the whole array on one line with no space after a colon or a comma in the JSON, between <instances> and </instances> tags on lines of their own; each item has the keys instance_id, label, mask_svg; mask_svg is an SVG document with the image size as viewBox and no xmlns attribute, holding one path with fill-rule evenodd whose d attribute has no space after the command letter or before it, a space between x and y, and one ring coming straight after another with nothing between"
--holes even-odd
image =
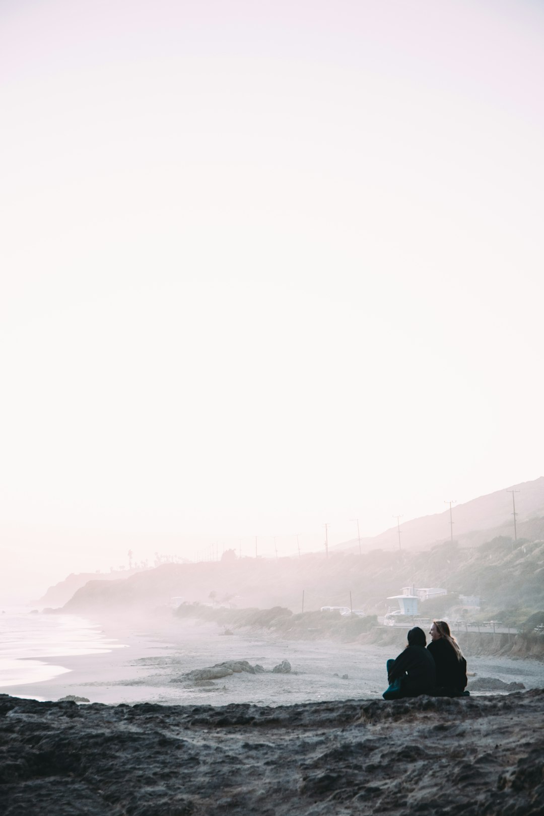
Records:
<instances>
[{"instance_id":1,"label":"pale white sky with faint pink tint above the hills","mask_svg":"<svg viewBox=\"0 0 544 816\"><path fill-rule=\"evenodd\" d=\"M542 475L543 42L528 0L2 0L0 591Z\"/></svg>"}]
</instances>

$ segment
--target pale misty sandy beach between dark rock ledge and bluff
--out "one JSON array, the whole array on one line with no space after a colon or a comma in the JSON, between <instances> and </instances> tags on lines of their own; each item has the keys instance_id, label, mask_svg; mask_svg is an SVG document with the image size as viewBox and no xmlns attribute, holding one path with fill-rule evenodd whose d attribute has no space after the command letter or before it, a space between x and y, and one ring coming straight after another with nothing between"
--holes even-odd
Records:
<instances>
[{"instance_id":1,"label":"pale misty sandy beach between dark rock ledge and bluff","mask_svg":"<svg viewBox=\"0 0 544 816\"><path fill-rule=\"evenodd\" d=\"M254 703L277 706L346 698L378 698L385 688L385 661L398 647L287 641L266 632L235 632L232 636L214 623L179 622L168 614L134 628L118 620L102 630L117 645L100 654L48 658L44 663L68 672L46 681L11 685L0 691L13 696L58 700L66 695L91 703L211 704ZM195 669L228 660L247 660L265 672L226 676L201 687L185 680ZM287 660L289 674L272 668ZM525 688L544 687L544 664L530 659L471 657L469 672ZM470 679L470 678L469 678Z\"/></svg>"}]
</instances>

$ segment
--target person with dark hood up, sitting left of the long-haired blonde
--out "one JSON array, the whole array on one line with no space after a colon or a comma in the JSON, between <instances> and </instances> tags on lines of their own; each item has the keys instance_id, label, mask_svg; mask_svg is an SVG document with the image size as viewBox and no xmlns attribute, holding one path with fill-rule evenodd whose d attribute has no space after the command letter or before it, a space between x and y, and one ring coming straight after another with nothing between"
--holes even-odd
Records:
<instances>
[{"instance_id":1,"label":"person with dark hood up, sitting left of the long-haired blonde","mask_svg":"<svg viewBox=\"0 0 544 816\"><path fill-rule=\"evenodd\" d=\"M429 694L436 685L436 666L431 653L425 648L425 632L418 626L408 632L408 645L395 660L387 660L389 688L384 700L418 697Z\"/></svg>"}]
</instances>

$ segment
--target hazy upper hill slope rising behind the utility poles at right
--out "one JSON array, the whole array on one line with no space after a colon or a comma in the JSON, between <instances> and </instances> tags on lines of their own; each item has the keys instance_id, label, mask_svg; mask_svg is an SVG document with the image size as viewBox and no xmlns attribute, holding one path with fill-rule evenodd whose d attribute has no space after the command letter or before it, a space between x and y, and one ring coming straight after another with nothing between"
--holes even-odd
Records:
<instances>
[{"instance_id":1,"label":"hazy upper hill slope rising behind the utility poles at right","mask_svg":"<svg viewBox=\"0 0 544 816\"><path fill-rule=\"evenodd\" d=\"M515 512L518 537L544 538L544 477L524 481L519 485L506 486L516 490ZM470 502L454 504L452 510L453 538L462 546L484 543L498 535L514 535L512 515L512 494L507 490L496 490L471 499ZM400 546L402 549L428 548L451 538L449 508L432 516L424 516L400 524ZM372 538L361 540L365 550L399 547L398 530L391 527ZM357 539L339 543L335 549L359 552Z\"/></svg>"}]
</instances>

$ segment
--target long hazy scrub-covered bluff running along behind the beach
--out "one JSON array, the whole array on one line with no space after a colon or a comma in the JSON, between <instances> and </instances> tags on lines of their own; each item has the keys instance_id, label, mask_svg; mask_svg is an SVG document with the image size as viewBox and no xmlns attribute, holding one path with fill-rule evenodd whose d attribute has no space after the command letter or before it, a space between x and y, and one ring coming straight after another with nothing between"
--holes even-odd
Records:
<instances>
[{"instance_id":1,"label":"long hazy scrub-covered bluff running along behind the beach","mask_svg":"<svg viewBox=\"0 0 544 816\"><path fill-rule=\"evenodd\" d=\"M352 605L365 614L383 614L387 605L396 605L387 597L412 585L448 591L445 598L422 604L423 615L440 616L449 609L462 615L459 596L479 596L480 610L464 614L482 620L500 615L503 623L519 625L544 610L544 542L502 536L473 548L448 542L425 552L335 552L329 558L276 560L238 559L232 553L222 561L165 564L125 580L90 581L64 611L138 614L197 601L239 608L279 605L299 612L304 602L305 610Z\"/></svg>"}]
</instances>

